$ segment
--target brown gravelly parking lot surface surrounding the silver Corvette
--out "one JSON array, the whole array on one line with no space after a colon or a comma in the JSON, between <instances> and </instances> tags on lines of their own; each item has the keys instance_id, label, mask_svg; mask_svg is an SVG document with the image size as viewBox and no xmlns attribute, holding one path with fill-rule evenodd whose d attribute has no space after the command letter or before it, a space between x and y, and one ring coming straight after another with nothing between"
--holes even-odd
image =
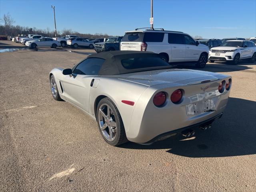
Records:
<instances>
[{"instance_id":1,"label":"brown gravelly parking lot surface surrounding the silver Corvette","mask_svg":"<svg viewBox=\"0 0 256 192\"><path fill-rule=\"evenodd\" d=\"M0 41L0 48L23 47ZM94 120L50 92L52 68L71 68L92 53L0 53L0 191L256 191L255 63L203 69L233 77L228 107L210 130L113 147Z\"/></svg>"}]
</instances>

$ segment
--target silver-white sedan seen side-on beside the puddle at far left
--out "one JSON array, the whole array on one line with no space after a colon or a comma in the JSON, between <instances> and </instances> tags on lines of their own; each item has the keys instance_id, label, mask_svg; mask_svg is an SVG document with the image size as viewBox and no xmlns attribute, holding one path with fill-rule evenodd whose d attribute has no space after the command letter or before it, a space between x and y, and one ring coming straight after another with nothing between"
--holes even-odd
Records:
<instances>
[{"instance_id":1,"label":"silver-white sedan seen side-on beside the puddle at far left","mask_svg":"<svg viewBox=\"0 0 256 192\"><path fill-rule=\"evenodd\" d=\"M35 41L27 41L26 46L31 47L31 48L36 48L36 47L52 47L56 48L60 46L60 42L52 39L52 38L40 38Z\"/></svg>"}]
</instances>

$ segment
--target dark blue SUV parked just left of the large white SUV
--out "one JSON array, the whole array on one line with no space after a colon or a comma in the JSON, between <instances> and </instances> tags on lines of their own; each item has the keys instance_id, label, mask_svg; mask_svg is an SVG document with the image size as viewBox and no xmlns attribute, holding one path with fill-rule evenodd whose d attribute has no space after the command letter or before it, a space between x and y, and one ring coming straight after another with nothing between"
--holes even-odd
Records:
<instances>
[{"instance_id":1,"label":"dark blue SUV parked just left of the large white SUV","mask_svg":"<svg viewBox=\"0 0 256 192\"><path fill-rule=\"evenodd\" d=\"M119 50L120 42L122 40L122 36L118 37L109 37L106 42L95 43L94 50L99 53L103 51L115 51Z\"/></svg>"}]
</instances>

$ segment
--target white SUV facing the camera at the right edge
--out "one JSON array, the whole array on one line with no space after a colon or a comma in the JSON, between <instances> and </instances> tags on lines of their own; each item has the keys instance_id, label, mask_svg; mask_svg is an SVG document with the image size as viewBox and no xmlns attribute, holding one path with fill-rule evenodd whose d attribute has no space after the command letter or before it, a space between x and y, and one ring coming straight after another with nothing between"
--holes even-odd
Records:
<instances>
[{"instance_id":1,"label":"white SUV facing the camera at the right edge","mask_svg":"<svg viewBox=\"0 0 256 192\"><path fill-rule=\"evenodd\" d=\"M232 64L238 64L241 59L250 59L250 62L256 60L256 45L252 41L229 40L219 47L210 49L209 60L228 61Z\"/></svg>"}]
</instances>

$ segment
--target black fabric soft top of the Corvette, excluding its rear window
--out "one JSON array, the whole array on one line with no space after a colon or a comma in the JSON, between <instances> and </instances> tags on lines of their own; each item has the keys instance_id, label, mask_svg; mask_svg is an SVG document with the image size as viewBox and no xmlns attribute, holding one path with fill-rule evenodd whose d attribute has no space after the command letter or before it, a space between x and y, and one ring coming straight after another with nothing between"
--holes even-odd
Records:
<instances>
[{"instance_id":1,"label":"black fabric soft top of the Corvette, excluding its rear window","mask_svg":"<svg viewBox=\"0 0 256 192\"><path fill-rule=\"evenodd\" d=\"M158 66L158 67L144 67L144 68L136 68L136 69L127 69L124 68L121 61L129 58L160 58L160 56L153 52L147 51L108 51L101 52L98 54L92 54L87 58L102 58L105 59L105 62L102 64L98 75L118 75L118 74L126 74L133 72L141 72L147 70L158 70L158 69L166 69L172 68L166 62L166 66ZM161 60L162 61L162 60Z\"/></svg>"}]
</instances>

